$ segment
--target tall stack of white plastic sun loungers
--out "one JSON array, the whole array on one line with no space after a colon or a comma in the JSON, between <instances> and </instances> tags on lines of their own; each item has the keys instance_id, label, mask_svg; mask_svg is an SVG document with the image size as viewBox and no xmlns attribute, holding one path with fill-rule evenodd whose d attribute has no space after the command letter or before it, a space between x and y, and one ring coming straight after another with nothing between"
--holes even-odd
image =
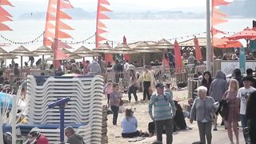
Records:
<instances>
[{"instance_id":1,"label":"tall stack of white plastic sun loungers","mask_svg":"<svg viewBox=\"0 0 256 144\"><path fill-rule=\"evenodd\" d=\"M21 130L36 129L50 140L59 142L59 109L48 109L57 98L70 97L65 107L65 127L72 126L86 143L102 142L103 78L27 77L27 124ZM23 134L22 134L23 135Z\"/></svg>"}]
</instances>

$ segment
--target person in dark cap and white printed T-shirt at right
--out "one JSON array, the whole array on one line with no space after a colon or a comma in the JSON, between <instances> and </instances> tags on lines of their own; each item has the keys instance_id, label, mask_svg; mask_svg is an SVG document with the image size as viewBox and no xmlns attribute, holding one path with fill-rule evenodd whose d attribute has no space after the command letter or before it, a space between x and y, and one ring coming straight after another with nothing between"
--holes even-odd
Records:
<instances>
[{"instance_id":1,"label":"person in dark cap and white printed T-shirt at right","mask_svg":"<svg viewBox=\"0 0 256 144\"><path fill-rule=\"evenodd\" d=\"M256 89L251 84L250 77L242 78L243 87L238 90L237 98L240 99L240 117L242 121L242 128L245 129L247 127L247 118L246 118L246 106L249 99L249 96ZM243 130L243 136L245 138L246 144L249 143L249 135L245 133Z\"/></svg>"}]
</instances>

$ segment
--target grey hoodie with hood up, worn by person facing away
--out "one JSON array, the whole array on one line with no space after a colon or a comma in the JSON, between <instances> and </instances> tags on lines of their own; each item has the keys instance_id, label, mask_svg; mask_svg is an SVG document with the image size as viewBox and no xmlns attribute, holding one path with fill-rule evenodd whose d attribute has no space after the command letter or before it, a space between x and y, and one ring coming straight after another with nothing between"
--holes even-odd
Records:
<instances>
[{"instance_id":1,"label":"grey hoodie with hood up, worn by person facing away","mask_svg":"<svg viewBox=\"0 0 256 144\"><path fill-rule=\"evenodd\" d=\"M226 75L222 71L217 71L216 77L210 84L209 94L214 98L215 102L221 102L223 94L228 89L228 83L226 82Z\"/></svg>"}]
</instances>

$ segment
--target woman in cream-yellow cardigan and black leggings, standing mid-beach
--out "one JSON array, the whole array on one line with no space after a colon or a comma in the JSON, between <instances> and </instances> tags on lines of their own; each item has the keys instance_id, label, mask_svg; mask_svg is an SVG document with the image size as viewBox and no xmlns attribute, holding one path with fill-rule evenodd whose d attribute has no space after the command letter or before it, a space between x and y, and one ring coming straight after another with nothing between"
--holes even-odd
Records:
<instances>
[{"instance_id":1,"label":"woman in cream-yellow cardigan and black leggings, standing mid-beach","mask_svg":"<svg viewBox=\"0 0 256 144\"><path fill-rule=\"evenodd\" d=\"M153 85L154 82L154 76L150 73L149 67L148 66L144 66L144 71L143 73L140 75L140 77L138 78L138 83L139 82L143 82L143 101L146 100L146 96L147 99L150 100L150 86Z\"/></svg>"}]
</instances>

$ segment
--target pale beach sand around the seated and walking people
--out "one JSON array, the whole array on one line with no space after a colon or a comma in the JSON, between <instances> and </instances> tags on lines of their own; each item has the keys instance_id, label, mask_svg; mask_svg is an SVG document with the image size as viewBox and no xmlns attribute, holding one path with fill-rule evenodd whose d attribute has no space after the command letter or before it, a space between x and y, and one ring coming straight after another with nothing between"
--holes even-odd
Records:
<instances>
[{"instance_id":1,"label":"pale beach sand around the seated and walking people","mask_svg":"<svg viewBox=\"0 0 256 144\"><path fill-rule=\"evenodd\" d=\"M180 90L180 91L174 91L174 99L176 100L180 100L182 101L182 104L186 104L186 98L187 98L187 90ZM127 94L123 94L123 99L124 100L128 100ZM142 93L138 93L138 99L142 99ZM104 100L104 102L106 102L106 99ZM138 102L135 103L134 102L134 98L132 96L132 102L130 103L125 103L124 105L125 108L133 108L136 109L134 110L134 116L137 118L138 120L138 130L142 130L142 131L146 131L147 130L147 126L148 126L148 122L151 122L150 116L148 114L148 104L147 102L143 103L143 102ZM138 144L142 144L142 143L152 143L156 140L156 137L152 137L152 138L145 138L141 141L138 142L128 142L131 140L131 138L122 138L121 135L121 119L124 116L124 113L122 114L118 114L118 126L113 126L112 125L112 117L113 114L109 114L108 115L108 142L110 144L130 144L130 143L138 143ZM219 118L220 119L220 118ZM199 134L198 134L198 126L197 123L194 122L192 125L189 123L188 119L186 118L186 124L188 126L190 126L191 128L193 128L193 130L181 130L178 131L176 133L174 133L174 144L191 144L192 142L198 142L199 141ZM229 139L226 133L226 130L224 129L224 126L218 126L218 131L213 131L213 144L229 144ZM240 137L240 143L244 143L242 140L242 128L240 128L240 132L239 132L239 137ZM163 134L163 143L165 142L165 134ZM134 139L134 138L132 138ZM235 142L235 141L234 141Z\"/></svg>"}]
</instances>

